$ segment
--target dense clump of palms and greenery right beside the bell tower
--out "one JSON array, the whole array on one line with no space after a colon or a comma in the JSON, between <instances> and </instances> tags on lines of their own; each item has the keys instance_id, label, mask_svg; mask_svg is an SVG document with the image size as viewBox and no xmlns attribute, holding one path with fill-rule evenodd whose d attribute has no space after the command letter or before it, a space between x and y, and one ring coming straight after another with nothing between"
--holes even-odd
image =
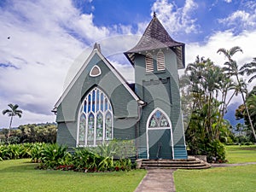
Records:
<instances>
[{"instance_id":1,"label":"dense clump of palms and greenery right beside the bell tower","mask_svg":"<svg viewBox=\"0 0 256 192\"><path fill-rule=\"evenodd\" d=\"M189 154L207 154L210 161L224 160L221 142L233 143L224 113L231 97L236 95L235 82L210 59L197 56L186 67L180 87ZM230 96L231 90L234 93Z\"/></svg>"}]
</instances>

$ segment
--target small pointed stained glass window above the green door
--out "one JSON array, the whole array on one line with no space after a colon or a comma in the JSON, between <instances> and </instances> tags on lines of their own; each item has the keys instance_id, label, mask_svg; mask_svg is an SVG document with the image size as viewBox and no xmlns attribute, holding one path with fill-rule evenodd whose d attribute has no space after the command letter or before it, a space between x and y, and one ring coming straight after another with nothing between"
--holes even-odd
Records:
<instances>
[{"instance_id":1,"label":"small pointed stained glass window above the green door","mask_svg":"<svg viewBox=\"0 0 256 192\"><path fill-rule=\"evenodd\" d=\"M148 128L168 128L170 124L164 113L160 110L156 110L149 119Z\"/></svg>"}]
</instances>

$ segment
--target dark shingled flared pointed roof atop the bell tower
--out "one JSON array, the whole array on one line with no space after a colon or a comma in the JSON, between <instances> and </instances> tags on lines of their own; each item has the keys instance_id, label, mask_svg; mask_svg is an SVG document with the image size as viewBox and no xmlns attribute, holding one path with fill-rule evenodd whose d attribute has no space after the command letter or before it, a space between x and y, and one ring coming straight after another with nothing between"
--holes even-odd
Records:
<instances>
[{"instance_id":1,"label":"dark shingled flared pointed roof atop the bell tower","mask_svg":"<svg viewBox=\"0 0 256 192\"><path fill-rule=\"evenodd\" d=\"M184 67L184 45L185 44L177 42L170 37L154 13L146 31L143 33L143 37L134 48L125 52L125 56L131 61L131 64L134 65L135 53L168 47L173 49L177 54L178 60L181 62L180 67Z\"/></svg>"}]
</instances>

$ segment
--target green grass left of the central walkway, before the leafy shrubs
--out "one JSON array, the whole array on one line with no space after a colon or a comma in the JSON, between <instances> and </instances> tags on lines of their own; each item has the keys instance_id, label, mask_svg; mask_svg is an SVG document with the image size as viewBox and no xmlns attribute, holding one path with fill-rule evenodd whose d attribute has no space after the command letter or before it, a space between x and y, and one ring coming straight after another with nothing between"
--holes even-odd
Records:
<instances>
[{"instance_id":1,"label":"green grass left of the central walkway, before the leafy shrubs","mask_svg":"<svg viewBox=\"0 0 256 192\"><path fill-rule=\"evenodd\" d=\"M131 172L63 172L36 170L30 160L0 161L0 186L5 192L134 191L144 170Z\"/></svg>"}]
</instances>

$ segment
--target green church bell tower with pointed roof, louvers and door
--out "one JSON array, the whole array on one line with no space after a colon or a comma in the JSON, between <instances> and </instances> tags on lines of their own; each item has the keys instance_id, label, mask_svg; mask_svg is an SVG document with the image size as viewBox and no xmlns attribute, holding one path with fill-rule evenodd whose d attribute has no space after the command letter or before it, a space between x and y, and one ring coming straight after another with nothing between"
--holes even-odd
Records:
<instances>
[{"instance_id":1,"label":"green church bell tower with pointed roof, louvers and door","mask_svg":"<svg viewBox=\"0 0 256 192\"><path fill-rule=\"evenodd\" d=\"M154 13L143 37L125 52L135 69L135 92L146 102L137 124L139 158L187 159L177 74L184 46Z\"/></svg>"}]
</instances>

